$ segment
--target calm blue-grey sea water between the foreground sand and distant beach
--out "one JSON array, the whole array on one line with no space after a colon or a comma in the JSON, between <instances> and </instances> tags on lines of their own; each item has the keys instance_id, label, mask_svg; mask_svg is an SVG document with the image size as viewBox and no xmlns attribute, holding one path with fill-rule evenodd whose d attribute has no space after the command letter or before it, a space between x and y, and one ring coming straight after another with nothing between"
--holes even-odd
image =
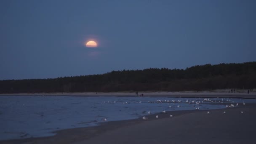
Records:
<instances>
[{"instance_id":1,"label":"calm blue-grey sea water between the foreground sand and distant beach","mask_svg":"<svg viewBox=\"0 0 256 144\"><path fill-rule=\"evenodd\" d=\"M200 104L192 104L193 100ZM221 109L226 107L221 101L223 104L256 102L255 99L172 97L0 96L0 140L51 136L60 129L94 126L103 122L103 118L135 119L147 115L148 111L154 114L196 107Z\"/></svg>"}]
</instances>

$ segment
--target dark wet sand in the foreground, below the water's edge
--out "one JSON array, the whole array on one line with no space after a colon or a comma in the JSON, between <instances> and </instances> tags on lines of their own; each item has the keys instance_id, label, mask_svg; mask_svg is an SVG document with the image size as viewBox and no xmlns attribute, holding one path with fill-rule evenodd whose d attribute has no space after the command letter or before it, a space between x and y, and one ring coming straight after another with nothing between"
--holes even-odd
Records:
<instances>
[{"instance_id":1,"label":"dark wet sand in the foreground, below the water's edge","mask_svg":"<svg viewBox=\"0 0 256 144\"><path fill-rule=\"evenodd\" d=\"M226 112L225 114L223 112ZM243 111L243 114L241 113ZM3 144L255 144L256 104L217 110L173 111L57 131L55 136L0 141ZM173 115L170 117L169 115Z\"/></svg>"}]
</instances>

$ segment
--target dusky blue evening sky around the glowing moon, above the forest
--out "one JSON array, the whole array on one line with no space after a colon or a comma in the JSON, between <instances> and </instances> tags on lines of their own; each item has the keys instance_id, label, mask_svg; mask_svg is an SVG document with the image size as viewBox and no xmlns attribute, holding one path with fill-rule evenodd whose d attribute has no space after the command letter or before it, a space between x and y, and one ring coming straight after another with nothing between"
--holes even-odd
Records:
<instances>
[{"instance_id":1,"label":"dusky blue evening sky around the glowing moon, above the forest","mask_svg":"<svg viewBox=\"0 0 256 144\"><path fill-rule=\"evenodd\" d=\"M256 61L255 14L256 0L0 0L0 80Z\"/></svg>"}]
</instances>

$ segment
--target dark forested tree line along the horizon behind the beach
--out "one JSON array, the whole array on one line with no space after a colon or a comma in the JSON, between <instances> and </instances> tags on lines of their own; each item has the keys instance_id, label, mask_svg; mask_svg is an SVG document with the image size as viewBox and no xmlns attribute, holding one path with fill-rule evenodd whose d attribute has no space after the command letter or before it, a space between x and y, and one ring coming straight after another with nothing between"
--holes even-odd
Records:
<instances>
[{"instance_id":1,"label":"dark forested tree line along the horizon behind the beach","mask_svg":"<svg viewBox=\"0 0 256 144\"><path fill-rule=\"evenodd\" d=\"M149 68L49 79L0 80L0 93L202 91L255 88L256 62Z\"/></svg>"}]
</instances>

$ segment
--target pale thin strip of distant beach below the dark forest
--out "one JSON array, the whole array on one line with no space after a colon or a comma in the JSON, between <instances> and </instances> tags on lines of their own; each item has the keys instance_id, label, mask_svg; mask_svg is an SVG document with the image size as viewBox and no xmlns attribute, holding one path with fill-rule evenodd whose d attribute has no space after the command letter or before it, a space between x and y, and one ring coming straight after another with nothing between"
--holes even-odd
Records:
<instances>
[{"instance_id":1,"label":"pale thin strip of distant beach below the dark forest","mask_svg":"<svg viewBox=\"0 0 256 144\"><path fill-rule=\"evenodd\" d=\"M225 92L226 91L226 92ZM138 96L143 94L147 96L170 96L170 97L234 97L234 98L256 98L256 92L237 91L228 93L227 90L216 91L182 91L182 92L166 92L166 91L143 91L139 92ZM135 92L75 92L75 93L5 93L0 96L131 96L136 97Z\"/></svg>"}]
</instances>

